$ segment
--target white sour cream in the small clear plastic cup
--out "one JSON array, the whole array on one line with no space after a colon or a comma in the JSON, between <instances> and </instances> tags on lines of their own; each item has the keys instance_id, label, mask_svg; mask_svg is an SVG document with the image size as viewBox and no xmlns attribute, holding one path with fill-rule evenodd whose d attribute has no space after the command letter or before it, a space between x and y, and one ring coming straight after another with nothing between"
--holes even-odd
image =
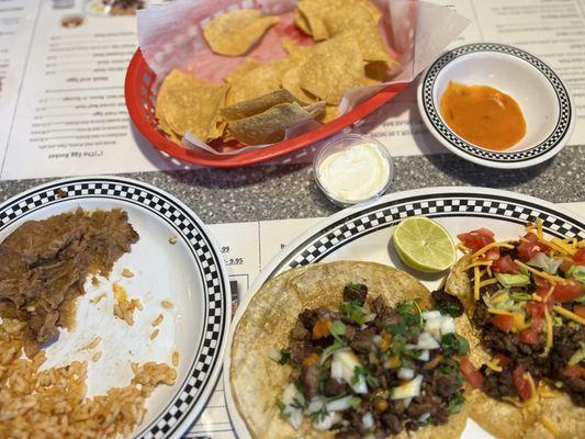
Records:
<instances>
[{"instance_id":1,"label":"white sour cream in the small clear plastic cup","mask_svg":"<svg viewBox=\"0 0 585 439\"><path fill-rule=\"evenodd\" d=\"M374 144L331 154L318 167L320 184L341 202L356 203L380 192L390 179L390 164Z\"/></svg>"}]
</instances>

